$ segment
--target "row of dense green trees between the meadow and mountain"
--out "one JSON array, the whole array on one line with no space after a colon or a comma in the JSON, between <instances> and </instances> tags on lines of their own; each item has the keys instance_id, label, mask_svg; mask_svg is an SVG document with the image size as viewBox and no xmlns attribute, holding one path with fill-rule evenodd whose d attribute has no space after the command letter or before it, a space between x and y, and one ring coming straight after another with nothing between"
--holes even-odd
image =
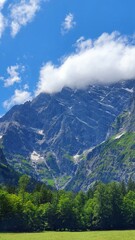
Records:
<instances>
[{"instance_id":1,"label":"row of dense green trees between the meadow and mountain","mask_svg":"<svg viewBox=\"0 0 135 240\"><path fill-rule=\"evenodd\" d=\"M135 229L135 182L96 183L88 192L18 186L0 187L0 231L86 231Z\"/></svg>"}]
</instances>

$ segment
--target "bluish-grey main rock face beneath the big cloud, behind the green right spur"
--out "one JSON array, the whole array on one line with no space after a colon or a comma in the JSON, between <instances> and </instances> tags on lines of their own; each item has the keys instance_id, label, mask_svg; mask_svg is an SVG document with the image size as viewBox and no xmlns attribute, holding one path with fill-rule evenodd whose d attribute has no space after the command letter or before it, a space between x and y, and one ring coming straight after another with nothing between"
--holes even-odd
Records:
<instances>
[{"instance_id":1,"label":"bluish-grey main rock face beneath the big cloud, behind the green right spur","mask_svg":"<svg viewBox=\"0 0 135 240\"><path fill-rule=\"evenodd\" d=\"M0 142L19 172L57 188L72 182L79 156L105 141L111 126L133 99L134 81L85 90L42 93L14 106L0 119Z\"/></svg>"}]
</instances>

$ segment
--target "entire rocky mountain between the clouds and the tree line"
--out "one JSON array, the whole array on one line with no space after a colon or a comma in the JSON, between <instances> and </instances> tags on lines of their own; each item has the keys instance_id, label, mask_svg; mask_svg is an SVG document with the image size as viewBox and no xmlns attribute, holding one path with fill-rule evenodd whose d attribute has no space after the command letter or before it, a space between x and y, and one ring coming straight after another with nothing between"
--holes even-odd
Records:
<instances>
[{"instance_id":1,"label":"entire rocky mountain between the clouds and the tree line","mask_svg":"<svg viewBox=\"0 0 135 240\"><path fill-rule=\"evenodd\" d=\"M5 181L21 173L87 191L96 181L135 180L134 88L135 81L64 88L14 106L0 118Z\"/></svg>"}]
</instances>

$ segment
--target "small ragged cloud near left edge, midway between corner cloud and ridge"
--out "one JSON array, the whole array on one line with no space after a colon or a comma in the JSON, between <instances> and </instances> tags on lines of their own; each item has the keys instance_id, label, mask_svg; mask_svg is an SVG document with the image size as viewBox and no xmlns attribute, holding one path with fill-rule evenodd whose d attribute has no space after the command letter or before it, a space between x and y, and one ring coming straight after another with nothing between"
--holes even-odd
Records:
<instances>
[{"instance_id":1,"label":"small ragged cloud near left edge, midway between corner cloud and ridge","mask_svg":"<svg viewBox=\"0 0 135 240\"><path fill-rule=\"evenodd\" d=\"M23 72L24 70L25 67L20 65L8 67L7 74L9 75L9 77L6 79L1 78L4 81L4 86L9 87L14 85L14 83L20 82L21 81L20 73Z\"/></svg>"}]
</instances>

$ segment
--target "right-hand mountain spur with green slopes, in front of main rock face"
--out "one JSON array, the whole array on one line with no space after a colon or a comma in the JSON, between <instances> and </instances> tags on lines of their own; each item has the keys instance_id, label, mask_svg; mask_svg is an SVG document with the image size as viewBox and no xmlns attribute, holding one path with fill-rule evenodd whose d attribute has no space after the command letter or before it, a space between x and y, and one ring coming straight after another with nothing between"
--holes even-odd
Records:
<instances>
[{"instance_id":1,"label":"right-hand mountain spur with green slopes, in front of main rock face","mask_svg":"<svg viewBox=\"0 0 135 240\"><path fill-rule=\"evenodd\" d=\"M110 137L79 156L81 164L67 189L87 191L95 181L135 180L135 96L110 128Z\"/></svg>"}]
</instances>

